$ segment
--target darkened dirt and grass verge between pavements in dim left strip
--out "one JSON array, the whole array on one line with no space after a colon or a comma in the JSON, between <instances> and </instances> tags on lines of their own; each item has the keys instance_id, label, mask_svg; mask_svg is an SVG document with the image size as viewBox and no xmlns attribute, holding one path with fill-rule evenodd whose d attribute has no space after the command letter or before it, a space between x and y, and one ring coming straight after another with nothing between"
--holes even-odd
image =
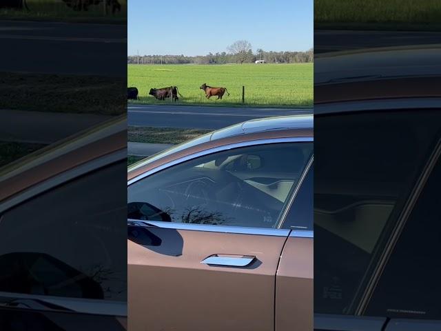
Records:
<instances>
[{"instance_id":1,"label":"darkened dirt and grass verge between pavements in dim left strip","mask_svg":"<svg viewBox=\"0 0 441 331\"><path fill-rule=\"evenodd\" d=\"M125 79L0 72L0 108L119 115L126 111Z\"/></svg>"}]
</instances>

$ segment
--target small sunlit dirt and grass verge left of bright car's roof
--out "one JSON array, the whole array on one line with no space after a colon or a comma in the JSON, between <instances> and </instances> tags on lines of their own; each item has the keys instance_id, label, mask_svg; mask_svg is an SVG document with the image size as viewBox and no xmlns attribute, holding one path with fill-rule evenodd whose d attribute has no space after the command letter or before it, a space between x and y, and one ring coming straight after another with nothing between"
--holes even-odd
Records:
<instances>
[{"instance_id":1,"label":"small sunlit dirt and grass verge left of bright car's roof","mask_svg":"<svg viewBox=\"0 0 441 331\"><path fill-rule=\"evenodd\" d=\"M129 126L127 140L135 143L183 143L212 130Z\"/></svg>"}]
</instances>

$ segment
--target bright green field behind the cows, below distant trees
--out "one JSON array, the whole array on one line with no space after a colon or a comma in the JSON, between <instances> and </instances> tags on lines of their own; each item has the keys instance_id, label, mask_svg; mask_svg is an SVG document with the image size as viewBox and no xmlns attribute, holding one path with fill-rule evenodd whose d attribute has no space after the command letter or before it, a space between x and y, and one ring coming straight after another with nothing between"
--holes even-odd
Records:
<instances>
[{"instance_id":1,"label":"bright green field behind the cows, below distant trees","mask_svg":"<svg viewBox=\"0 0 441 331\"><path fill-rule=\"evenodd\" d=\"M148 93L150 88L177 86L183 97L177 104L212 106L307 106L313 104L313 63L225 65L136 65L127 68L128 86L136 86L141 103L165 104ZM207 100L199 87L227 88L222 100ZM132 101L130 101L132 102Z\"/></svg>"}]
</instances>

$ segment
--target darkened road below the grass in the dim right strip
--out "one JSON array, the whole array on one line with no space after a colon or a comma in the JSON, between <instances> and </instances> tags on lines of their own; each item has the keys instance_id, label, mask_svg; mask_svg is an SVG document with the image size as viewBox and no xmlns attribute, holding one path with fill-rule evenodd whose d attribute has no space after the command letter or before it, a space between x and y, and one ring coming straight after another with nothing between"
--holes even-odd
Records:
<instances>
[{"instance_id":1,"label":"darkened road below the grass in the dim right strip","mask_svg":"<svg viewBox=\"0 0 441 331\"><path fill-rule=\"evenodd\" d=\"M315 30L314 52L441 43L441 32Z\"/></svg>"}]
</instances>

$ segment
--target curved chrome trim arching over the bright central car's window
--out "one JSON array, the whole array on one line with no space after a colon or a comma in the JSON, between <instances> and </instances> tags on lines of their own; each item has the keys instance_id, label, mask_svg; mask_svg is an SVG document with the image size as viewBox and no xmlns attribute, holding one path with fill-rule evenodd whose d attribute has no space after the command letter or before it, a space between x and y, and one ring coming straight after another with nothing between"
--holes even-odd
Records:
<instances>
[{"instance_id":1,"label":"curved chrome trim arching over the bright central car's window","mask_svg":"<svg viewBox=\"0 0 441 331\"><path fill-rule=\"evenodd\" d=\"M139 181L145 177L148 177L151 174L154 174L154 173L159 172L161 170L164 170L166 168L170 168L173 165L176 165L178 163L183 163L185 161L196 159L198 157L203 157L208 154L222 152L224 150L232 150L234 148L241 148L241 147L247 147L247 146L267 145L270 143L298 143L298 142L308 142L308 141L314 141L314 138L313 137L289 137L289 138L259 139L259 140L253 140L253 141L243 141L240 143L232 143L229 145L218 146L215 148L209 148L207 150L203 150L201 152L189 154L185 157L181 157L181 158L176 159L174 161L164 163L163 165L159 165L158 167L156 167L152 170L149 170L147 172L144 172L143 174L139 174L138 176L130 179L130 181L127 181L127 186L130 186L130 185L132 185L132 183L136 183L136 181Z\"/></svg>"}]
</instances>

